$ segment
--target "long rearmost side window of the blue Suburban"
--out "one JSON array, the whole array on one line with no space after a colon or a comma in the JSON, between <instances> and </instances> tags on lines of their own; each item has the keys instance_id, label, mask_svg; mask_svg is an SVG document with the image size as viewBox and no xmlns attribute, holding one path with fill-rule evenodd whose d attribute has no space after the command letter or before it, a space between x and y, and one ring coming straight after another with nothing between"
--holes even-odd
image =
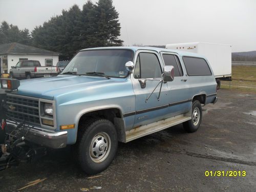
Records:
<instances>
[{"instance_id":1,"label":"long rearmost side window of the blue Suburban","mask_svg":"<svg viewBox=\"0 0 256 192\"><path fill-rule=\"evenodd\" d=\"M203 58L183 57L183 61L189 76L211 75L210 68Z\"/></svg>"}]
</instances>

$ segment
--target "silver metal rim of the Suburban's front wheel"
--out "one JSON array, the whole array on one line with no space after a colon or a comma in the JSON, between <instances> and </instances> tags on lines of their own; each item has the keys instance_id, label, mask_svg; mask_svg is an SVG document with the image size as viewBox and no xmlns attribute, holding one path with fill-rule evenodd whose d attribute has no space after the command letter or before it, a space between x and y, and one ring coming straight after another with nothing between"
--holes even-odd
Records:
<instances>
[{"instance_id":1,"label":"silver metal rim of the Suburban's front wheel","mask_svg":"<svg viewBox=\"0 0 256 192\"><path fill-rule=\"evenodd\" d=\"M90 145L90 157L95 163L100 163L108 157L111 148L110 136L105 132L95 135Z\"/></svg>"}]
</instances>

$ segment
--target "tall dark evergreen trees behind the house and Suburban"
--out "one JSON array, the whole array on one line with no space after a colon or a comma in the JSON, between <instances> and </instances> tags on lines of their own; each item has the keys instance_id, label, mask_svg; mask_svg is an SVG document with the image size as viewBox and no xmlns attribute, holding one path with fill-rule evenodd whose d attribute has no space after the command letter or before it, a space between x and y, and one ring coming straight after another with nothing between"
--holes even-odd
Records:
<instances>
[{"instance_id":1,"label":"tall dark evergreen trees behind the house and Suburban","mask_svg":"<svg viewBox=\"0 0 256 192\"><path fill-rule=\"evenodd\" d=\"M95 4L89 0L82 10L73 5L42 26L36 26L31 33L2 22L0 44L20 42L59 52L61 59L70 59L80 49L121 46L120 29L112 0L99 0Z\"/></svg>"}]
</instances>

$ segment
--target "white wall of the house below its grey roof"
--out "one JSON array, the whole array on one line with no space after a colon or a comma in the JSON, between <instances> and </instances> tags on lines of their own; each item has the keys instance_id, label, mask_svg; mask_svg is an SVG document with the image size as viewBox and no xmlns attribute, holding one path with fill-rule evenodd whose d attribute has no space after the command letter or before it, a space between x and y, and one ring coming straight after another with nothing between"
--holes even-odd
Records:
<instances>
[{"instance_id":1,"label":"white wall of the house below its grey roof","mask_svg":"<svg viewBox=\"0 0 256 192\"><path fill-rule=\"evenodd\" d=\"M46 66L46 59L52 59L52 65L56 66L59 61L58 55L32 55L32 54L8 54L8 73L12 66L16 66L19 58L27 58L28 60L38 60L41 66Z\"/></svg>"}]
</instances>

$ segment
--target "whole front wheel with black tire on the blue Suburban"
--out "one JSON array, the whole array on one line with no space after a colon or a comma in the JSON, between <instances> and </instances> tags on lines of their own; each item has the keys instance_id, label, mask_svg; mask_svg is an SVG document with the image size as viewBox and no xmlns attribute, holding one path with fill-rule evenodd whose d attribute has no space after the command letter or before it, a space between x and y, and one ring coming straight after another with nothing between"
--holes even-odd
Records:
<instances>
[{"instance_id":1,"label":"whole front wheel with black tire on the blue Suburban","mask_svg":"<svg viewBox=\"0 0 256 192\"><path fill-rule=\"evenodd\" d=\"M115 126L109 120L94 119L79 129L82 131L76 144L78 163L89 175L102 172L111 164L117 151Z\"/></svg>"}]
</instances>

